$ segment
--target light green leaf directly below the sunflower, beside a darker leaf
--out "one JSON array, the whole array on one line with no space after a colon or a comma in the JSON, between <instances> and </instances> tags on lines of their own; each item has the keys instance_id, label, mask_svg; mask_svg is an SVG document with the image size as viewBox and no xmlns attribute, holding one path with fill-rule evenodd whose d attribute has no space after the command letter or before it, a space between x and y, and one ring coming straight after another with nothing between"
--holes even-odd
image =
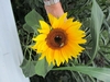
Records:
<instances>
[{"instance_id":1,"label":"light green leaf directly below the sunflower, beside a darker leaf","mask_svg":"<svg viewBox=\"0 0 110 82\"><path fill-rule=\"evenodd\" d=\"M35 66L35 72L38 75L45 77L46 73L53 68L53 65L48 66L46 59L38 60Z\"/></svg>"}]
</instances>

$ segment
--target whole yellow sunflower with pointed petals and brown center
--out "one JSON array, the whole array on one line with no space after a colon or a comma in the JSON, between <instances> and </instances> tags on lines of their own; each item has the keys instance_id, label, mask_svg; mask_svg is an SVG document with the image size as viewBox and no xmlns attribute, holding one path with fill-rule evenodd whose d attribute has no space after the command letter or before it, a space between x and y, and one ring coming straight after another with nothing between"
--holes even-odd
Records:
<instances>
[{"instance_id":1,"label":"whole yellow sunflower with pointed petals and brown center","mask_svg":"<svg viewBox=\"0 0 110 82\"><path fill-rule=\"evenodd\" d=\"M85 49L80 44L85 44L85 32L80 30L81 23L74 19L66 19L67 13L61 17L48 14L51 24L40 21L40 35L33 38L35 43L32 48L41 54L40 59L46 58L48 65L68 62L68 59L77 58Z\"/></svg>"}]
</instances>

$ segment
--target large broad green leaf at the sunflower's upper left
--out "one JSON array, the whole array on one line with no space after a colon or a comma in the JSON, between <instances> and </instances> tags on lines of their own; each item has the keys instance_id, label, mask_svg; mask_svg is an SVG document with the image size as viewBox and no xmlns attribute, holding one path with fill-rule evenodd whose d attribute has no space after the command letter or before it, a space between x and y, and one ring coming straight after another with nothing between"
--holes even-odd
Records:
<instances>
[{"instance_id":1,"label":"large broad green leaf at the sunflower's upper left","mask_svg":"<svg viewBox=\"0 0 110 82\"><path fill-rule=\"evenodd\" d=\"M35 10L32 10L25 16L26 24L31 26L34 30L34 32L36 32L37 27L40 27L40 20L43 20L43 17Z\"/></svg>"}]
</instances>

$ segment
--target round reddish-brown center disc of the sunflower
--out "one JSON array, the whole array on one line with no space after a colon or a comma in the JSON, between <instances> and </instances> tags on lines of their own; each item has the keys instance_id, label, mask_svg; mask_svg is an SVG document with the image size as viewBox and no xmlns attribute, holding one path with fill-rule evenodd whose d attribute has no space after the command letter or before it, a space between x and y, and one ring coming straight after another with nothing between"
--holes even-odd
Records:
<instances>
[{"instance_id":1,"label":"round reddish-brown center disc of the sunflower","mask_svg":"<svg viewBox=\"0 0 110 82\"><path fill-rule=\"evenodd\" d=\"M46 42L51 48L58 49L66 45L67 35L64 30L54 28L47 35Z\"/></svg>"}]
</instances>

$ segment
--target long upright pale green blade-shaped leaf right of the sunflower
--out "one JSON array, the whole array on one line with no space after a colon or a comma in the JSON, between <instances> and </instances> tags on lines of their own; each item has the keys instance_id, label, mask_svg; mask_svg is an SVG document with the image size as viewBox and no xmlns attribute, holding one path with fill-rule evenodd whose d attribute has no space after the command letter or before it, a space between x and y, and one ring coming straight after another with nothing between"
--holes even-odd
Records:
<instances>
[{"instance_id":1,"label":"long upright pale green blade-shaped leaf right of the sunflower","mask_svg":"<svg viewBox=\"0 0 110 82\"><path fill-rule=\"evenodd\" d=\"M99 48L99 34L100 28L103 21L103 12L96 2L96 0L92 0L92 8L91 8L91 38L92 38L92 51L91 51L91 61L95 59L98 48Z\"/></svg>"}]
</instances>

